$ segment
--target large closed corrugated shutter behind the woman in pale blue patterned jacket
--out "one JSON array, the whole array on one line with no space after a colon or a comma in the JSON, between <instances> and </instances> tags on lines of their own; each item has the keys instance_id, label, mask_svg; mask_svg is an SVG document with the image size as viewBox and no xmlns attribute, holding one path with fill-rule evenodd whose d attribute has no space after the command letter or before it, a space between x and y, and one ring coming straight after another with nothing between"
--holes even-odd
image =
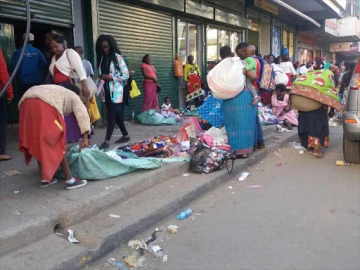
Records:
<instances>
[{"instance_id":1,"label":"large closed corrugated shutter behind the woman in pale blue patterned jacket","mask_svg":"<svg viewBox=\"0 0 360 270\"><path fill-rule=\"evenodd\" d=\"M151 56L151 62L157 71L161 85L160 105L163 98L168 96L174 106L177 106L172 24L170 14L122 4L119 1L99 1L100 34L112 35L117 40L121 54L142 93L140 97L130 99L126 116L131 115L133 110L136 114L141 112L144 91L140 65L145 54Z\"/></svg>"}]
</instances>

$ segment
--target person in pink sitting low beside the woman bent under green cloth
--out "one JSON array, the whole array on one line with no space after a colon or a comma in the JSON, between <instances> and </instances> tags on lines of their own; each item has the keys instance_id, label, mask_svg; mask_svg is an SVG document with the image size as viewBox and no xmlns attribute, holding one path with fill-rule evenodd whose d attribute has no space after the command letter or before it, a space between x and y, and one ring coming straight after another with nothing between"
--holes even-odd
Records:
<instances>
[{"instance_id":1,"label":"person in pink sitting low beside the woman bent under green cloth","mask_svg":"<svg viewBox=\"0 0 360 270\"><path fill-rule=\"evenodd\" d=\"M284 125L291 130L293 126L298 126L299 122L290 105L289 95L285 91L285 84L276 85L275 94L271 97L271 105L273 114L279 120L284 121Z\"/></svg>"}]
</instances>

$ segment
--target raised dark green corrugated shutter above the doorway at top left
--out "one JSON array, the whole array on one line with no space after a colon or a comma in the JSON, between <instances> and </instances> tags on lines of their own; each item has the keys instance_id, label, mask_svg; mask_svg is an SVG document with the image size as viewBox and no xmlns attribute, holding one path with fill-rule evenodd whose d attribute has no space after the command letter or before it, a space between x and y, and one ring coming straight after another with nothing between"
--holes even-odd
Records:
<instances>
[{"instance_id":1,"label":"raised dark green corrugated shutter above the doorway at top left","mask_svg":"<svg viewBox=\"0 0 360 270\"><path fill-rule=\"evenodd\" d=\"M31 21L72 27L72 0L31 0ZM24 0L0 0L0 17L26 20Z\"/></svg>"}]
</instances>

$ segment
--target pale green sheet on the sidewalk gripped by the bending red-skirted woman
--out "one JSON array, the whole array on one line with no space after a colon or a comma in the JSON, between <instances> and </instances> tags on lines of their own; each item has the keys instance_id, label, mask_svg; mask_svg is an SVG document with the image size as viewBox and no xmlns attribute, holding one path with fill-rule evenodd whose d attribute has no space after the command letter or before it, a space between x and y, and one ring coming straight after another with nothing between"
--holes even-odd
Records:
<instances>
[{"instance_id":1,"label":"pale green sheet on the sidewalk gripped by the bending red-skirted woman","mask_svg":"<svg viewBox=\"0 0 360 270\"><path fill-rule=\"evenodd\" d=\"M73 176L87 180L108 179L139 169L157 169L162 166L161 161L154 159L115 160L103 151L94 149L83 149L81 152L72 149L67 157ZM56 173L56 176L64 178L61 170Z\"/></svg>"}]
</instances>

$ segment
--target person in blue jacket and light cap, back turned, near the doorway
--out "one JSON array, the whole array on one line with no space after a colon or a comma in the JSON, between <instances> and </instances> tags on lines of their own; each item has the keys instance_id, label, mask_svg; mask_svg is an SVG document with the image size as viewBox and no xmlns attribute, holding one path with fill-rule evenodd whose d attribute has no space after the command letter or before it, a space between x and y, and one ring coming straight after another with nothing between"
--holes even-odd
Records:
<instances>
[{"instance_id":1,"label":"person in blue jacket and light cap, back turned, near the doorway","mask_svg":"<svg viewBox=\"0 0 360 270\"><path fill-rule=\"evenodd\" d=\"M25 38L26 34L23 35L23 40L25 40ZM43 70L46 66L46 60L44 55L41 53L40 50L33 47L34 40L35 36L29 33L28 44L26 46L25 54L17 74L20 85L19 99L29 88L41 84ZM12 68L15 68L15 66L19 62L21 50L22 48L15 51L11 60Z\"/></svg>"}]
</instances>

